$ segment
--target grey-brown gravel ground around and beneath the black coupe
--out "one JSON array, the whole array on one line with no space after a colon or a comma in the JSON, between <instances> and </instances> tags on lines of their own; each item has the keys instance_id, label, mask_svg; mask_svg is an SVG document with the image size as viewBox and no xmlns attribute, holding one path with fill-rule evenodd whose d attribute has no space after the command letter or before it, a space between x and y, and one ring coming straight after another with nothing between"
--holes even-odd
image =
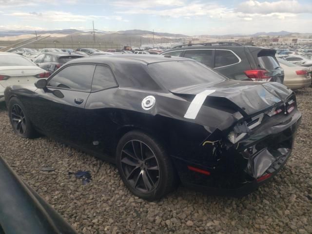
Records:
<instances>
[{"instance_id":1,"label":"grey-brown gravel ground around and beneath the black coupe","mask_svg":"<svg viewBox=\"0 0 312 234\"><path fill-rule=\"evenodd\" d=\"M297 91L303 118L283 170L243 198L209 196L179 187L146 202L123 185L115 166L47 137L13 134L0 106L0 154L17 174L83 234L312 234L312 88ZM53 166L54 172L41 172ZM90 171L92 181L68 172Z\"/></svg>"}]
</instances>

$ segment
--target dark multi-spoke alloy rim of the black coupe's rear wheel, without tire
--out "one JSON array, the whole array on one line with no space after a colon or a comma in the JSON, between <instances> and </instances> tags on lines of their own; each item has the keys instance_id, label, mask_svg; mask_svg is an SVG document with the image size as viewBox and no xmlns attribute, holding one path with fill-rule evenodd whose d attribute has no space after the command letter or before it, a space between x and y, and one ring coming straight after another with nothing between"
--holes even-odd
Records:
<instances>
[{"instance_id":1,"label":"dark multi-spoke alloy rim of the black coupe's rear wheel, without tire","mask_svg":"<svg viewBox=\"0 0 312 234\"><path fill-rule=\"evenodd\" d=\"M121 168L134 189L142 193L155 190L159 164L154 152L140 140L128 141L121 151Z\"/></svg>"}]
</instances>

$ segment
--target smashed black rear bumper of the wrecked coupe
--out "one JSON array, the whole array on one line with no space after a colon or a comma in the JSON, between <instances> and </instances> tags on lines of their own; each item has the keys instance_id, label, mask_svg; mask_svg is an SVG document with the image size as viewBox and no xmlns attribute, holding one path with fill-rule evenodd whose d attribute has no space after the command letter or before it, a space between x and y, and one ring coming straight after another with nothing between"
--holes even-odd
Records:
<instances>
[{"instance_id":1,"label":"smashed black rear bumper of the wrecked coupe","mask_svg":"<svg viewBox=\"0 0 312 234\"><path fill-rule=\"evenodd\" d=\"M284 118L285 120L285 118ZM295 111L286 121L270 121L244 140L223 150L215 166L205 162L175 160L184 185L212 195L243 196L269 181L291 156L301 114ZM189 166L206 173L189 170Z\"/></svg>"}]
</instances>

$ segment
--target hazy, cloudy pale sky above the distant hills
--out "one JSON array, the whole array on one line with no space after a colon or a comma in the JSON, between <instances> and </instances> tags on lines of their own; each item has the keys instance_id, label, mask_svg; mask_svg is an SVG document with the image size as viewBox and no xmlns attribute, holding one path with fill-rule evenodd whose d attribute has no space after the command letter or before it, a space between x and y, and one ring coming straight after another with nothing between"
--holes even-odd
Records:
<instances>
[{"instance_id":1,"label":"hazy, cloudy pale sky above the distant hills","mask_svg":"<svg viewBox=\"0 0 312 234\"><path fill-rule=\"evenodd\" d=\"M312 33L312 0L0 0L0 29Z\"/></svg>"}]
</instances>

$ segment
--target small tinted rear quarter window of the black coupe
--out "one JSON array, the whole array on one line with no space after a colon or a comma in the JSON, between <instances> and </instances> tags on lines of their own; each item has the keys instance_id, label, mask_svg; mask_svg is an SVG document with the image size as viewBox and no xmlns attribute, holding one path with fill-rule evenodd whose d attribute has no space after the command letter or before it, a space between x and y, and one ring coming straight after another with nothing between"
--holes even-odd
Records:
<instances>
[{"instance_id":1,"label":"small tinted rear quarter window of the black coupe","mask_svg":"<svg viewBox=\"0 0 312 234\"><path fill-rule=\"evenodd\" d=\"M117 83L109 67L97 66L94 72L91 91L116 87Z\"/></svg>"}]
</instances>

